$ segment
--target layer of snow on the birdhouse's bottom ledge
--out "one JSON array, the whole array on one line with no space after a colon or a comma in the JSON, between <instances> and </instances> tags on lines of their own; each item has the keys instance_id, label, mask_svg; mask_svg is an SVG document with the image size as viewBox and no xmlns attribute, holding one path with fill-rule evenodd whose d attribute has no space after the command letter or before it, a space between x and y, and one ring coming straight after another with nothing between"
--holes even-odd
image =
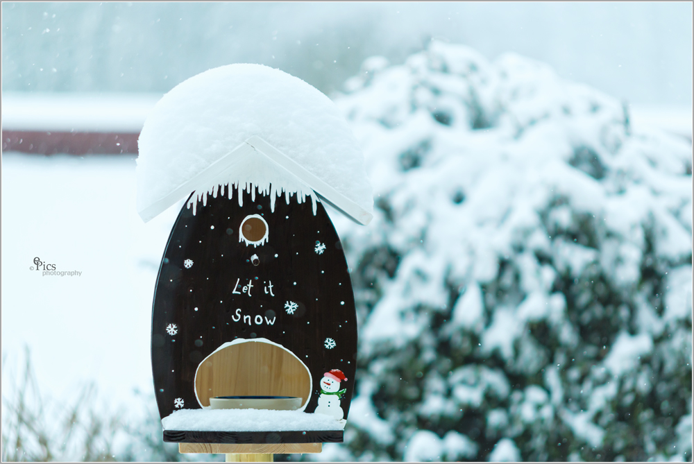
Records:
<instances>
[{"instance_id":1,"label":"layer of snow on the birdhouse's bottom ledge","mask_svg":"<svg viewBox=\"0 0 694 464\"><path fill-rule=\"evenodd\" d=\"M162 419L164 430L262 432L343 430L329 415L270 409L181 409Z\"/></svg>"}]
</instances>

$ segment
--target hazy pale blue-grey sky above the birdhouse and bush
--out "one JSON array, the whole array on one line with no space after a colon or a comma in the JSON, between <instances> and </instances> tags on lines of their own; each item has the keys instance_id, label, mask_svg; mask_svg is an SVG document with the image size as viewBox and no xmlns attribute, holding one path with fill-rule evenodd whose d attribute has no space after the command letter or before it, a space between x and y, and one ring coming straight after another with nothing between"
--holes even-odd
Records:
<instances>
[{"instance_id":1,"label":"hazy pale blue-grey sky above the birdhouse and bush","mask_svg":"<svg viewBox=\"0 0 694 464\"><path fill-rule=\"evenodd\" d=\"M3 3L3 91L166 92L260 62L323 92L430 37L550 63L630 103L691 106L691 3Z\"/></svg>"}]
</instances>

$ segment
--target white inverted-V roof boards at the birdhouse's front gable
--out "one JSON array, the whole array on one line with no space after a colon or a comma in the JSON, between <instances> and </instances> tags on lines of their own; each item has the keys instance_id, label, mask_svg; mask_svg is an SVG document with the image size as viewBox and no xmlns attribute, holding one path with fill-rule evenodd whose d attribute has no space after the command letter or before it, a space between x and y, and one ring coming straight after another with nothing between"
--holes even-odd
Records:
<instances>
[{"instance_id":1,"label":"white inverted-V roof boards at the birdhouse's front gable","mask_svg":"<svg viewBox=\"0 0 694 464\"><path fill-rule=\"evenodd\" d=\"M373 215L370 212L341 194L325 181L316 177L316 175L307 171L301 164L298 164L277 148L255 135L246 139L244 143L234 148L230 153L221 157L216 162L210 164L210 166L201 173L198 173L194 178L181 184L164 198L139 210L139 216L144 222L148 222L152 218L155 218L155 216L164 212L171 205L174 205L174 203L181 198L187 197L192 191L208 191L217 183L226 184L226 173L232 171L239 160L243 160L244 157L248 155L253 155L254 152L264 155L264 157L281 169L293 175L309 189L312 189L321 200L325 201L325 203L329 203L332 207L335 207L335 209L356 223L367 225L371 222Z\"/></svg>"}]
</instances>

